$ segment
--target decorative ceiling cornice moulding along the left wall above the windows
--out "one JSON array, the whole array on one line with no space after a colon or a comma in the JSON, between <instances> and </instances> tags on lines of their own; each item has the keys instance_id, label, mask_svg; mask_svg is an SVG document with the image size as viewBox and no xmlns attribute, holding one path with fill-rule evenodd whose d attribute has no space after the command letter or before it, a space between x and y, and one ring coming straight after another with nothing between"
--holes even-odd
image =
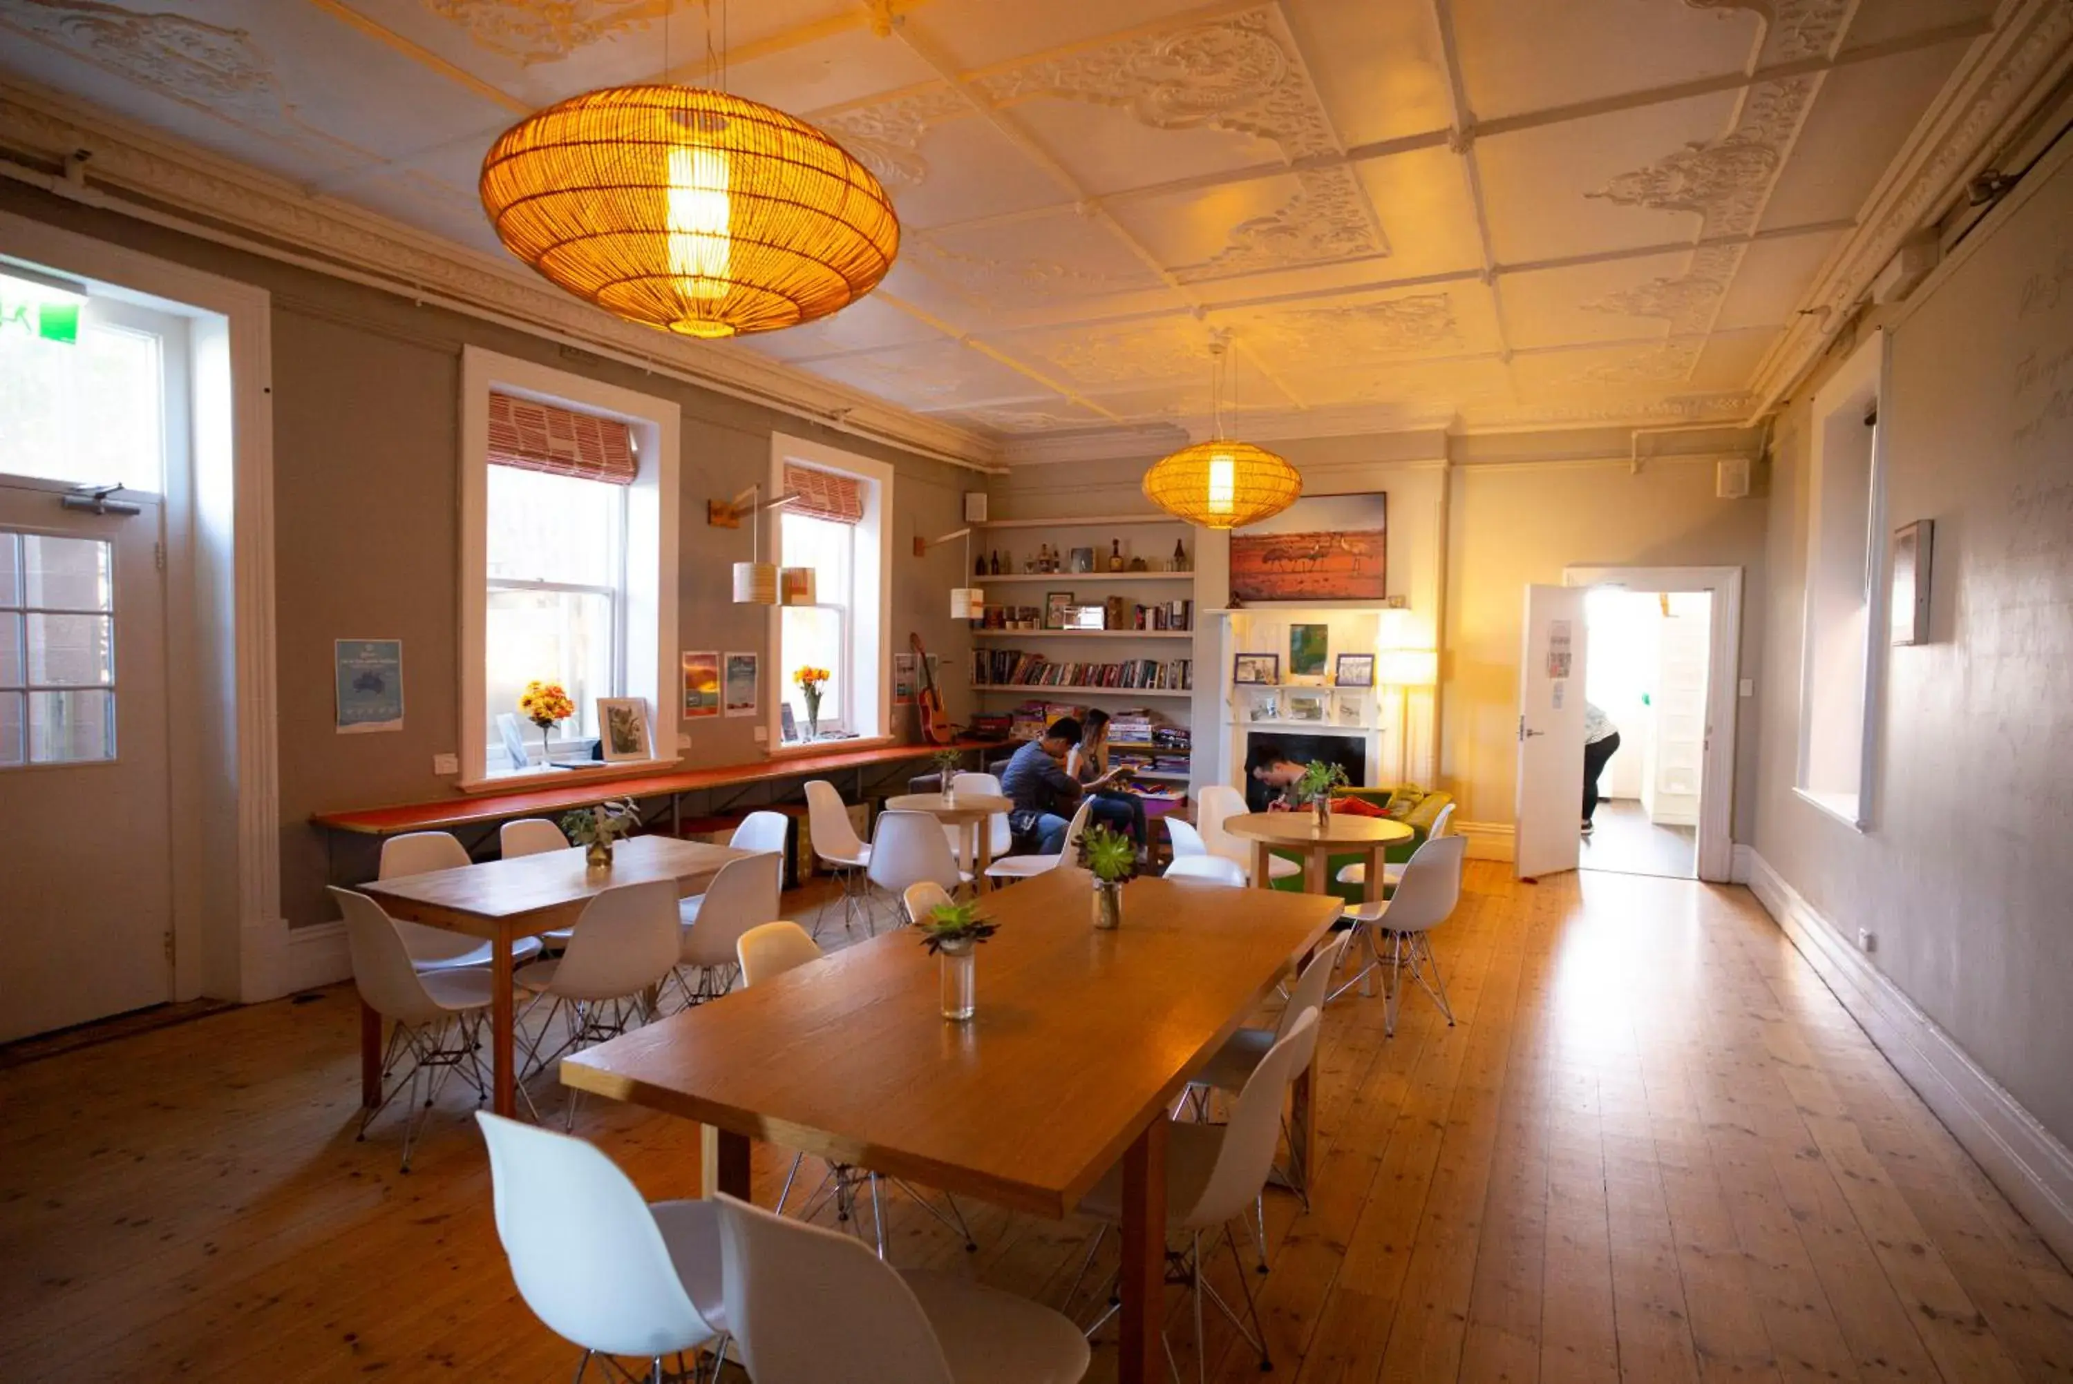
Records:
<instances>
[{"instance_id":1,"label":"decorative ceiling cornice moulding along the left wall above the windows","mask_svg":"<svg viewBox=\"0 0 2073 1384\"><path fill-rule=\"evenodd\" d=\"M925 456L989 468L993 439L792 369L761 354L688 342L624 323L535 280L516 263L454 244L361 207L311 197L292 182L120 116L31 85L0 81L0 149L64 166L89 151L83 197L133 195L147 205L106 205L141 220L158 207L180 230L251 253L373 284L413 300L595 348L719 394L871 437ZM46 182L64 193L64 180ZM232 234L222 234L232 232Z\"/></svg>"}]
</instances>

